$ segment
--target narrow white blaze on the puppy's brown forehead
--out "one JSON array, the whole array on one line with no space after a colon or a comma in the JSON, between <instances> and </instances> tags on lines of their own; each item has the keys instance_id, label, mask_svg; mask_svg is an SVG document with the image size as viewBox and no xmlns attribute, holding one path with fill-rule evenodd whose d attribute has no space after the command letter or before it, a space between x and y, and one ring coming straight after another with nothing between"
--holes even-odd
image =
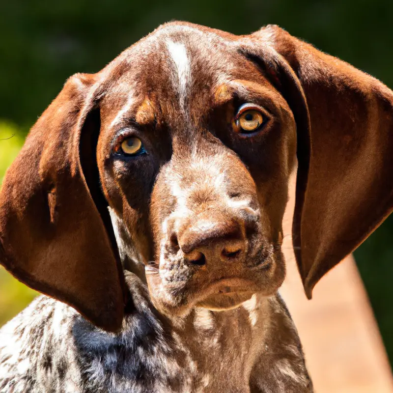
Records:
<instances>
[{"instance_id":1,"label":"narrow white blaze on the puppy's brown forehead","mask_svg":"<svg viewBox=\"0 0 393 393\"><path fill-rule=\"evenodd\" d=\"M180 96L180 105L184 107L187 96L187 84L190 78L190 61L184 44L168 41L168 52L176 70L176 80L173 81Z\"/></svg>"}]
</instances>

